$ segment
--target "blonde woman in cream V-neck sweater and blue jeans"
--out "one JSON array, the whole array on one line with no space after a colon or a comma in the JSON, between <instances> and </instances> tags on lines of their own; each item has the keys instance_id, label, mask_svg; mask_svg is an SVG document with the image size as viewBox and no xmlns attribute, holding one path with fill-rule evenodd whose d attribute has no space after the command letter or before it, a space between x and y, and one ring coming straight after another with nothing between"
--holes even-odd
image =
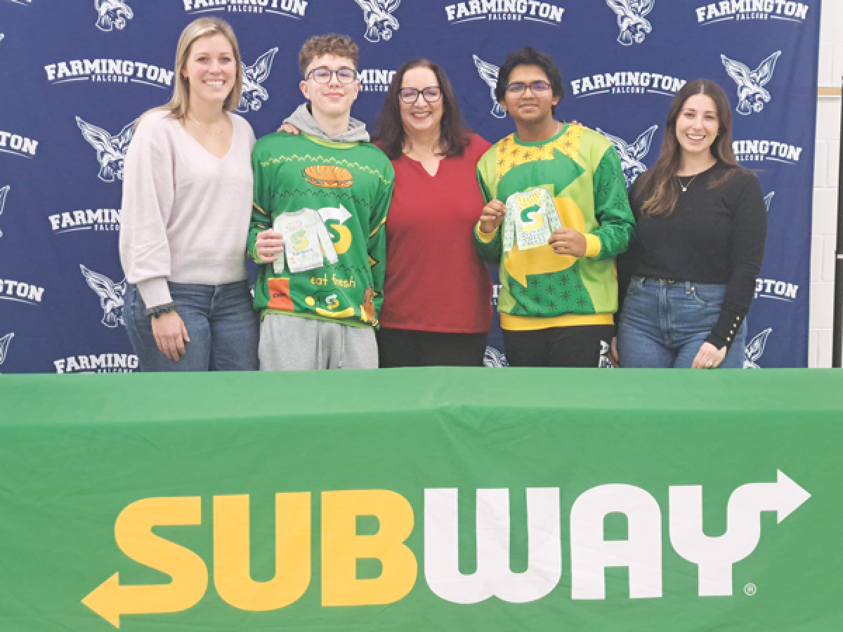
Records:
<instances>
[{"instance_id":1,"label":"blonde woman in cream V-neck sweater and blue jeans","mask_svg":"<svg viewBox=\"0 0 843 632\"><path fill-rule=\"evenodd\" d=\"M142 371L256 370L244 255L255 135L232 114L243 85L234 31L182 32L173 99L142 116L126 153L124 319Z\"/></svg>"}]
</instances>

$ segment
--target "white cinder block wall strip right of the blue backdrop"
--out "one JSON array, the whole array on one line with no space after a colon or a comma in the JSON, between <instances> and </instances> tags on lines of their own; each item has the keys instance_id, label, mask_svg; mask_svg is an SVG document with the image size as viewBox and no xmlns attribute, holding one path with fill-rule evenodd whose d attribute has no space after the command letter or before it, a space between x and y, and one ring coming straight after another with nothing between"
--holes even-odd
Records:
<instances>
[{"instance_id":1,"label":"white cinder block wall strip right of the blue backdrop","mask_svg":"<svg viewBox=\"0 0 843 632\"><path fill-rule=\"evenodd\" d=\"M840 185L840 79L843 77L843 0L823 0L819 34L817 157L813 171L811 239L811 333L808 367L831 366L835 294L837 187Z\"/></svg>"}]
</instances>

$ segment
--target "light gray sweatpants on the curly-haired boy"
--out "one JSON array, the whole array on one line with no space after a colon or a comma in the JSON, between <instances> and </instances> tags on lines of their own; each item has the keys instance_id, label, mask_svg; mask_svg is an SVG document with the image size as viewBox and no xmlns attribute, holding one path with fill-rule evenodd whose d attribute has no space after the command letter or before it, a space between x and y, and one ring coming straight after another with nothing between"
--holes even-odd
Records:
<instances>
[{"instance_id":1,"label":"light gray sweatpants on the curly-haired boy","mask_svg":"<svg viewBox=\"0 0 843 632\"><path fill-rule=\"evenodd\" d=\"M268 313L260 323L261 371L378 368L378 342L371 327Z\"/></svg>"}]
</instances>

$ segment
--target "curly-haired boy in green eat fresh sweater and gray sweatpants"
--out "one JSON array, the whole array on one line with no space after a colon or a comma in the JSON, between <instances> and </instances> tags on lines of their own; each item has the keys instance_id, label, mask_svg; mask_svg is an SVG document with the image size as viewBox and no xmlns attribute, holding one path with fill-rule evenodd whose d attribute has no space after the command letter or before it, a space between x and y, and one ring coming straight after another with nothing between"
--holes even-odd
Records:
<instances>
[{"instance_id":1,"label":"curly-haired boy in green eat fresh sweater and gray sweatpants","mask_svg":"<svg viewBox=\"0 0 843 632\"><path fill-rule=\"evenodd\" d=\"M249 252L260 264L260 369L377 368L384 222L393 170L351 118L357 45L319 35L298 54L302 133L255 143Z\"/></svg>"}]
</instances>

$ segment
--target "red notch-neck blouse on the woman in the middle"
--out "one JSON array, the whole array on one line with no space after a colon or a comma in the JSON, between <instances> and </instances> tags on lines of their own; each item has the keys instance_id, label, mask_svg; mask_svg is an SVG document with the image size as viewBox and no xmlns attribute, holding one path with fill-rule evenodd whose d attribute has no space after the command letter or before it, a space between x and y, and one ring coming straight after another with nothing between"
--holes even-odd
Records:
<instances>
[{"instance_id":1,"label":"red notch-neck blouse on the woman in the middle","mask_svg":"<svg viewBox=\"0 0 843 632\"><path fill-rule=\"evenodd\" d=\"M491 279L474 244L483 209L477 161L491 145L476 134L436 175L401 155L386 221L386 280L380 324L395 329L485 333Z\"/></svg>"}]
</instances>

